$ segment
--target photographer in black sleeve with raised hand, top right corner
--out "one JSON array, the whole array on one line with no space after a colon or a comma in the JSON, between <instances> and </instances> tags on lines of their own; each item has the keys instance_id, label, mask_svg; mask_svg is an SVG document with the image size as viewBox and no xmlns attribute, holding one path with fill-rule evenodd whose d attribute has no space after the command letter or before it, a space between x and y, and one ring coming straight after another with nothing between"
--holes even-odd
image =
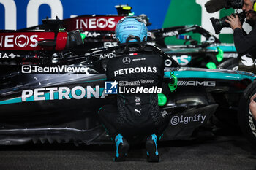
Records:
<instances>
[{"instance_id":1,"label":"photographer in black sleeve with raised hand, top right corner","mask_svg":"<svg viewBox=\"0 0 256 170\"><path fill-rule=\"evenodd\" d=\"M249 55L256 58L256 12L253 9L254 3L254 0L244 0L242 8L246 12L246 22L252 26L252 31L248 35L242 30L238 15L227 16L228 20L225 21L230 24L234 31L234 44L238 54L244 55L249 53Z\"/></svg>"}]
</instances>

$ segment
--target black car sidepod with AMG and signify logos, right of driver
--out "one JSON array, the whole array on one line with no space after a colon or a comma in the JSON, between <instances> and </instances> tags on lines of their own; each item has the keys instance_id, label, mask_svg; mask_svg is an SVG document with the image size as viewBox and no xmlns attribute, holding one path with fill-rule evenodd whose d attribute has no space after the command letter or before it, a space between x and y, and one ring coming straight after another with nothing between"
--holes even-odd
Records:
<instances>
[{"instance_id":1,"label":"black car sidepod with AMG and signify logos, right of driver","mask_svg":"<svg viewBox=\"0 0 256 170\"><path fill-rule=\"evenodd\" d=\"M178 87L163 107L170 114L170 123L162 140L189 139L213 115L224 123L235 124L241 94L255 80L249 72L195 68L166 71L166 78L170 72L178 77Z\"/></svg>"}]
</instances>

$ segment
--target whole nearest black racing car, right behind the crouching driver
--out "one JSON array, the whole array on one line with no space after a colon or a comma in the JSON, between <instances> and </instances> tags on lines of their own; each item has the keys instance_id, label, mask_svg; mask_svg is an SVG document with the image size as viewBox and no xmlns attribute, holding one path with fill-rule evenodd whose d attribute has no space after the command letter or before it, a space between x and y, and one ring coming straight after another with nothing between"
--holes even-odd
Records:
<instances>
[{"instance_id":1,"label":"whole nearest black racing car, right behind the crouching driver","mask_svg":"<svg viewBox=\"0 0 256 170\"><path fill-rule=\"evenodd\" d=\"M116 47L85 50L83 42L89 37L84 39L80 31L66 32L59 20L44 22L38 28L0 32L0 144L109 143L97 111L115 98L105 93L105 63L115 57ZM166 30L160 31L156 32ZM254 74L184 67L155 50L166 66L159 105L170 115L161 140L189 139L213 116L236 124L238 114L242 131L256 143L255 120L248 109L255 93Z\"/></svg>"}]
</instances>

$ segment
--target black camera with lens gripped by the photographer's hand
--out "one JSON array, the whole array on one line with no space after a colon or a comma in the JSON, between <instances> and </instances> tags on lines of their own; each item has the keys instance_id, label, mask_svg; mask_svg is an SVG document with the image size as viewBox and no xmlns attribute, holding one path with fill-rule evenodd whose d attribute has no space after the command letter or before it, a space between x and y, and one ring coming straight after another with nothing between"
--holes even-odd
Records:
<instances>
[{"instance_id":1,"label":"black camera with lens gripped by the photographer's hand","mask_svg":"<svg viewBox=\"0 0 256 170\"><path fill-rule=\"evenodd\" d=\"M241 24L243 24L244 18L246 16L245 12L240 12L232 15L233 16L238 15L238 18ZM230 27L230 24L225 21L225 20L228 20L227 16L220 19L216 19L212 17L210 18L210 20L211 20L212 26L214 27L215 34L219 34L223 27Z\"/></svg>"}]
</instances>

